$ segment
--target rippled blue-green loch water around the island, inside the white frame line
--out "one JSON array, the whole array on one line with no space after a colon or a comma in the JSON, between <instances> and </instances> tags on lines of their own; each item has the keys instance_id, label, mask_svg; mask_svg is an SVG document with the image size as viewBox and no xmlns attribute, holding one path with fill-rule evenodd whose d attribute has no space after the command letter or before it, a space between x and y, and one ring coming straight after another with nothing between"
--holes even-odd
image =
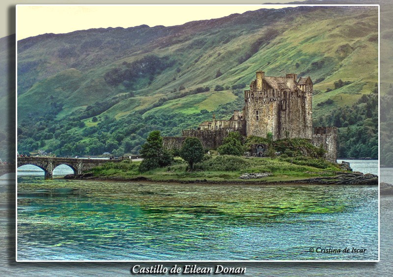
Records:
<instances>
[{"instance_id":1,"label":"rippled blue-green loch water around the island, inside the white frame line","mask_svg":"<svg viewBox=\"0 0 393 277\"><path fill-rule=\"evenodd\" d=\"M377 161L350 162L378 174ZM18 260L378 259L377 186L60 177L68 171L18 169Z\"/></svg>"}]
</instances>

